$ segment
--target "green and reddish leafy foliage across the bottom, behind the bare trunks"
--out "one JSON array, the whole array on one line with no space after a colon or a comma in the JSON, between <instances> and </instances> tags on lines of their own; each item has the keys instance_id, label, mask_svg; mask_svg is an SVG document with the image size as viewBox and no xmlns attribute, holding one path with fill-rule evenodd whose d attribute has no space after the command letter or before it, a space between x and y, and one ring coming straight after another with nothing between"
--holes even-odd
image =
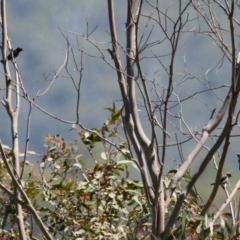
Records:
<instances>
[{"instance_id":1,"label":"green and reddish leafy foliage across the bottom, behind the bare trunks","mask_svg":"<svg viewBox=\"0 0 240 240\"><path fill-rule=\"evenodd\" d=\"M111 115L101 129L92 129L90 133L76 129L92 159L79 154L77 142L67 145L60 135L49 135L44 137L46 152L38 164L39 172L34 165L25 162L24 190L49 232L58 239L150 239L152 236L152 217L143 184L129 177L129 166L134 163L129 143L119 137L121 121L115 114L118 111L115 106L108 111ZM105 141L110 138L112 145ZM92 149L99 143L103 144L105 151L95 157ZM11 152L6 154L11 159ZM92 162L91 168L85 167L87 161ZM165 188L175 172L175 169L170 170L164 176ZM2 181L12 190L1 161L0 174ZM183 184L190 180L191 175L186 173ZM180 194L181 191L176 189L172 195L167 217ZM0 196L0 218L4 229L0 233L1 239L18 239L14 199L9 199L4 192ZM199 219L204 206L199 197L197 189L193 188L168 239L234 239L238 235L237 225L231 226L229 214L222 215L220 224L206 228L212 216ZM29 238L38 236L26 210L24 217ZM201 224L193 230L196 220Z\"/></svg>"}]
</instances>

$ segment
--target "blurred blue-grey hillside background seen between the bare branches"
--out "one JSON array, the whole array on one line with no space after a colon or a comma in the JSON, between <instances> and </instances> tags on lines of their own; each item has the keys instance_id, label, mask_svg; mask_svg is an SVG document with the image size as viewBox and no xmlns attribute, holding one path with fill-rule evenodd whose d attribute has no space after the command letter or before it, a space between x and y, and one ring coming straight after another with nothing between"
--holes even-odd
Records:
<instances>
[{"instance_id":1,"label":"blurred blue-grey hillside background seen between the bare branches","mask_svg":"<svg viewBox=\"0 0 240 240\"><path fill-rule=\"evenodd\" d=\"M163 8L169 7L169 13L171 16L175 16L176 11L178 11L177 5L175 6L174 3L175 1L162 2ZM68 37L72 46L76 46L76 39L78 39L81 49L94 56L100 56L97 49L81 36L83 34L86 35L87 24L90 32L97 27L90 38L96 42L101 42L101 49L105 50L105 58L111 63L111 57L107 51L108 48L111 48L111 39L109 36L106 5L107 2L103 0L52 0L48 2L22 0L7 2L8 34L14 49L16 47L24 49L24 52L17 58L17 63L29 96L32 98L35 97L38 91L39 94L43 93L49 86L50 80L64 63L68 46L61 31ZM149 5L146 3L144 3L143 10L146 15L151 11ZM115 1L115 13L117 15L118 40L122 46L125 46L126 1ZM194 15L194 12L189 12L189 16L192 19L197 17ZM221 19L220 13L219 17ZM224 19L224 15L222 19ZM222 25L224 26L224 20ZM139 29L140 35L144 31L149 32L151 30L150 27L145 29L146 21L144 19L141 22L141 26L142 29ZM200 99L204 99L209 106L207 111L206 108L202 107L204 104L200 104L202 100L196 100L196 102L190 102L184 106L183 114L188 116L186 119L188 125L192 129L201 132L202 127L208 122L211 116L210 109L213 110L216 108L218 111L222 100L224 100L228 92L227 86L231 82L231 65L224 58L219 48L213 42L209 41L209 38L207 39L204 35L195 34L199 27L203 31L206 27L201 20L192 21L192 26L188 25L188 30L190 27L192 28L192 32L182 36L177 52L177 61L175 62L174 87L176 87L179 96L184 97L187 91L191 93L191 91L196 92L196 89L198 91L205 90L204 85L200 83L201 81L205 83L210 82L212 87L225 84L225 87L215 91L216 95L214 96L208 94L208 92L200 96ZM154 30L151 40L157 41L162 39L163 34ZM73 50L76 53L76 57L78 57L78 61L80 61L80 52L78 52L77 46ZM157 48L154 48L154 54L168 55L167 46L159 44ZM167 79L165 72L160 69L158 63L151 61L152 56L151 49L142 55L142 57L145 57L145 60L143 60L144 74L147 79L154 79L164 85L165 79ZM122 60L124 62L124 59ZM72 65L72 68L71 64L69 66L71 74L78 79L79 73L74 69L74 65ZM109 116L109 112L104 110L104 108L112 107L113 102L117 104L117 107L120 108L121 106L116 72L111 66L104 63L101 58L93 58L86 54L83 56L83 67L80 122L87 128L101 127ZM0 71L3 73L2 69ZM185 81L184 73L187 71L197 76L199 81L188 79L188 88L183 90L181 85ZM59 118L75 121L77 95L71 80L64 78L65 75L66 70L63 68L50 89L43 96L37 97L35 102ZM5 96L4 85L5 81L2 75L2 80L0 81L1 99ZM22 151L25 143L28 111L29 103L22 100L19 117L19 138L20 140L23 139L22 145L20 141L20 149ZM0 112L0 137L5 145L11 146L9 119L2 105L0 105ZM149 127L147 125L148 119L144 113L141 115L141 120L145 122L147 129ZM85 148L82 148L80 137L75 131L70 131L70 129L70 124L61 123L38 109L33 108L29 149L41 153L44 151L44 141L41 136L61 134L66 142L74 140L79 142L80 151L86 156L85 160L87 161L88 153ZM234 132L234 134L238 137L239 133ZM212 145L212 140L209 139L207 144ZM194 145L195 142L186 145L187 148L183 149L185 157ZM238 149L239 141L232 142L224 169L225 172L232 172L234 177L238 175L236 157ZM101 151L100 149L97 150ZM206 152L200 152L198 160L192 165L192 169L196 169L199 166ZM33 161L39 160L39 156L32 158ZM177 161L179 161L178 153L169 150L167 152L168 164L165 169L166 173L168 170L176 167ZM216 171L214 165L210 164L210 167L207 175L202 176L204 186L208 186L215 179ZM231 181L233 183L236 182L237 177Z\"/></svg>"}]
</instances>

